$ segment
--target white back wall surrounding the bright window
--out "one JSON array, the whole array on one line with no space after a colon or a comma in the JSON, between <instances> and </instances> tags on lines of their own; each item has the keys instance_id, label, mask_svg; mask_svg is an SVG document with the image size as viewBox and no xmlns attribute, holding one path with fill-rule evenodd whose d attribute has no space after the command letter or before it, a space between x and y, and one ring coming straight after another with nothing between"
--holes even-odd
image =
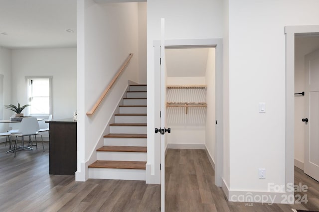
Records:
<instances>
[{"instance_id":1,"label":"white back wall surrounding the bright window","mask_svg":"<svg viewBox=\"0 0 319 212\"><path fill-rule=\"evenodd\" d=\"M52 76L53 119L76 110L76 48L12 50L12 104L27 104L25 76Z\"/></svg>"}]
</instances>

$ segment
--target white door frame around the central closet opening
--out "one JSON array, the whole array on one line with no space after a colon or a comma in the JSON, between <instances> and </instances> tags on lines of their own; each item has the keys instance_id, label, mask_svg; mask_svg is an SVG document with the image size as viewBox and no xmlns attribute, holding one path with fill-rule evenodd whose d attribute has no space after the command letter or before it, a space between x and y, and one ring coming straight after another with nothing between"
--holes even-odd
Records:
<instances>
[{"instance_id":1,"label":"white door frame around the central closet opening","mask_svg":"<svg viewBox=\"0 0 319 212\"><path fill-rule=\"evenodd\" d=\"M215 48L215 185L222 186L223 172L223 39L180 39L165 40L165 47L214 47ZM155 55L160 55L160 40L154 41ZM160 58L155 61L160 61ZM155 74L156 75L156 74ZM159 88L155 87L155 93L159 94ZM157 104L156 104L157 105ZM156 106L155 106L156 107ZM155 112L157 112L155 108ZM169 126L168 126L169 127ZM156 138L157 139L157 138ZM159 141L155 140L155 143ZM157 157L160 154L156 154Z\"/></svg>"}]
</instances>

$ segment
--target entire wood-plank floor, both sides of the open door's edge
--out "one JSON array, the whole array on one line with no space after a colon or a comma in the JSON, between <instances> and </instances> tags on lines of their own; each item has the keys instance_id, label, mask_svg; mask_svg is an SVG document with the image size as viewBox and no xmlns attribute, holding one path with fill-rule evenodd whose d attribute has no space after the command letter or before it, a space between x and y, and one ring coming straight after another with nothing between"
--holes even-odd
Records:
<instances>
[{"instance_id":1,"label":"entire wood-plank floor, both sides of the open door's edge","mask_svg":"<svg viewBox=\"0 0 319 212\"><path fill-rule=\"evenodd\" d=\"M40 143L39 143L40 144ZM144 181L99 180L75 182L74 176L49 175L45 152L5 154L0 144L0 212L160 212L160 185ZM166 212L292 212L319 211L319 183L295 168L295 184L307 185L307 204L228 202L214 185L214 172L204 150L168 149L166 155Z\"/></svg>"}]
</instances>

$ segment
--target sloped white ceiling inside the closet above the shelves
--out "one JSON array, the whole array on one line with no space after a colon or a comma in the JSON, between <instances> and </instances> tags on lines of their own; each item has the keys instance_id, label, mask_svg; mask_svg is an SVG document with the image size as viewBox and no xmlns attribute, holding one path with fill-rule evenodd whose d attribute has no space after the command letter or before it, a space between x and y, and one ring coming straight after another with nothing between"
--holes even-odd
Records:
<instances>
[{"instance_id":1,"label":"sloped white ceiling inside the closet above the shelves","mask_svg":"<svg viewBox=\"0 0 319 212\"><path fill-rule=\"evenodd\" d=\"M209 48L166 48L167 77L205 77Z\"/></svg>"}]
</instances>

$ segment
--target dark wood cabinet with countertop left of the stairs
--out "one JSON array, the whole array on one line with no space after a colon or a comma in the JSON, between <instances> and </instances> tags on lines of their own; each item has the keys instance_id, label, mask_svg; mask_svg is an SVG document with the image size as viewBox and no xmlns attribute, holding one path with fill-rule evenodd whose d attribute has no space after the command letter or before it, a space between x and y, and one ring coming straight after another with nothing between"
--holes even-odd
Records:
<instances>
[{"instance_id":1,"label":"dark wood cabinet with countertop left of the stairs","mask_svg":"<svg viewBox=\"0 0 319 212\"><path fill-rule=\"evenodd\" d=\"M73 118L46 121L50 124L50 174L75 175L77 170L76 121Z\"/></svg>"}]
</instances>

